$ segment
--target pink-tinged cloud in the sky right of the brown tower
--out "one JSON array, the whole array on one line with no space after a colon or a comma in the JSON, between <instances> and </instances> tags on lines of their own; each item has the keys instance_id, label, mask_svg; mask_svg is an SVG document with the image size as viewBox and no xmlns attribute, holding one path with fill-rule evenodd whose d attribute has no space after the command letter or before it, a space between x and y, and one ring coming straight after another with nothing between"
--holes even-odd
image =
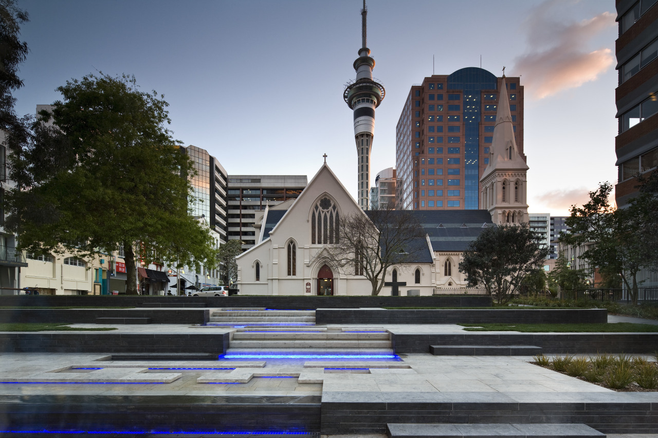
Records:
<instances>
[{"instance_id":1,"label":"pink-tinged cloud in the sky right of the brown tower","mask_svg":"<svg viewBox=\"0 0 658 438\"><path fill-rule=\"evenodd\" d=\"M615 26L615 14L603 12L580 22L565 21L555 14L568 12L564 6L564 1L546 0L523 25L528 50L515 59L512 71L523 76L526 92L534 99L593 81L615 62L611 49L587 48L590 39Z\"/></svg>"}]
</instances>

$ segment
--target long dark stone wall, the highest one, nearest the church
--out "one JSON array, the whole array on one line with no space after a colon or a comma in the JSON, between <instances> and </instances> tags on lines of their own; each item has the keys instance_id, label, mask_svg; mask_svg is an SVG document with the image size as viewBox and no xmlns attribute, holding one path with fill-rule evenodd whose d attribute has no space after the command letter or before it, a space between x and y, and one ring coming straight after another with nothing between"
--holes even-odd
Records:
<instances>
[{"instance_id":1,"label":"long dark stone wall, the highest one, nearest the church","mask_svg":"<svg viewBox=\"0 0 658 438\"><path fill-rule=\"evenodd\" d=\"M431 297L151 297L146 295L0 295L0 306L116 306L138 307L148 303L178 306L206 303L207 307L266 307L286 310L359 307L490 307L492 299L483 295L436 295Z\"/></svg>"}]
</instances>

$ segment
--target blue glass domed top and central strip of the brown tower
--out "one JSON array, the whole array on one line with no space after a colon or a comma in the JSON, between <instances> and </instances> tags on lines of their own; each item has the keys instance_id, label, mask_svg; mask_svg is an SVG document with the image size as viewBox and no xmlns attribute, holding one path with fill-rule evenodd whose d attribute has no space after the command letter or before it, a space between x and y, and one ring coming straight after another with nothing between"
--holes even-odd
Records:
<instances>
[{"instance_id":1,"label":"blue glass domed top and central strip of the brown tower","mask_svg":"<svg viewBox=\"0 0 658 438\"><path fill-rule=\"evenodd\" d=\"M464 118L464 208L478 209L480 175L480 95L482 90L497 89L497 78L487 70L467 67L457 70L447 78L447 89L463 90Z\"/></svg>"}]
</instances>

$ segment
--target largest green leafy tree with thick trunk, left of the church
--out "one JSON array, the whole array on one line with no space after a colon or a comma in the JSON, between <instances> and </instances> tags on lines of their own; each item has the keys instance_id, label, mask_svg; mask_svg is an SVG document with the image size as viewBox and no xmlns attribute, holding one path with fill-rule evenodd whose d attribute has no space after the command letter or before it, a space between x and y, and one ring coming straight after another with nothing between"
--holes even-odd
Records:
<instances>
[{"instance_id":1,"label":"largest green leafy tree with thick trunk, left of the church","mask_svg":"<svg viewBox=\"0 0 658 438\"><path fill-rule=\"evenodd\" d=\"M89 75L57 89L52 111L13 139L7 226L20 249L92 255L124 248L127 293L136 260L215 266L212 239L188 212L193 168L164 126L167 103L134 77ZM138 249L138 253L135 250Z\"/></svg>"}]
</instances>

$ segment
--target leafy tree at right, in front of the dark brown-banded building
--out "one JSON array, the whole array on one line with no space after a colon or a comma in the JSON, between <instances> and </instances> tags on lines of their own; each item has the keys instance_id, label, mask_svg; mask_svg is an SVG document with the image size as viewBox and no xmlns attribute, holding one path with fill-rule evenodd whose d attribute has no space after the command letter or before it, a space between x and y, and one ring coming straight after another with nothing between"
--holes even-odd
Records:
<instances>
[{"instance_id":1,"label":"leafy tree at right, in front of the dark brown-banded building","mask_svg":"<svg viewBox=\"0 0 658 438\"><path fill-rule=\"evenodd\" d=\"M633 304L637 304L638 289L642 283L638 274L647 263L647 246L638 232L642 215L638 205L619 209L613 207L609 201L612 189L611 183L600 183L599 188L590 192L588 203L582 207L573 205L567 218L571 231L561 235L560 239L568 245L592 243L582 257L588 260L592 268L616 272Z\"/></svg>"}]
</instances>

